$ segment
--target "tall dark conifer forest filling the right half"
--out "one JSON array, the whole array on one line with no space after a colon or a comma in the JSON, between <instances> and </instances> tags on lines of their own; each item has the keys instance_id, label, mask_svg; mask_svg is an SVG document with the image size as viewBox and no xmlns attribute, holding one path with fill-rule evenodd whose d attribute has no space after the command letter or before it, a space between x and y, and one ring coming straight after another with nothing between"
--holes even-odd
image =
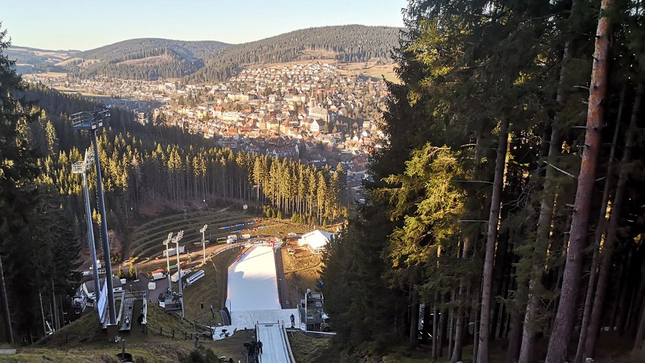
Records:
<instances>
[{"instance_id":1,"label":"tall dark conifer forest filling the right half","mask_svg":"<svg viewBox=\"0 0 645 363\"><path fill-rule=\"evenodd\" d=\"M639 1L410 0L390 144L323 269L330 355L642 362L643 21Z\"/></svg>"}]
</instances>

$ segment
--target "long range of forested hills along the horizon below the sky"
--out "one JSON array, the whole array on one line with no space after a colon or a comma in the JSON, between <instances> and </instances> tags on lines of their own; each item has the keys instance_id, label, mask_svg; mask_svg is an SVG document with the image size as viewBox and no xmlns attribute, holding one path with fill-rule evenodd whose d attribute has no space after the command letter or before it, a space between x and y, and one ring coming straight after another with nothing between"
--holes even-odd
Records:
<instances>
[{"instance_id":1,"label":"long range of forested hills along the horizon below the sky","mask_svg":"<svg viewBox=\"0 0 645 363\"><path fill-rule=\"evenodd\" d=\"M218 82L251 65L294 60L335 59L339 62L388 63L397 45L399 28L364 25L312 27L229 45L203 40L161 38L124 40L87 51L45 51L10 48L21 73L67 71L80 77L156 80L183 78L186 82Z\"/></svg>"}]
</instances>

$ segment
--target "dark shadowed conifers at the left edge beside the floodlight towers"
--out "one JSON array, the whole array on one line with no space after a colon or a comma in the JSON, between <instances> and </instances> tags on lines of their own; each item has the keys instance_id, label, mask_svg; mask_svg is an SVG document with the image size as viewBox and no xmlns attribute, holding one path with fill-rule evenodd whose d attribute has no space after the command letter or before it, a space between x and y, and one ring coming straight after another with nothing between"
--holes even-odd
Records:
<instances>
[{"instance_id":1,"label":"dark shadowed conifers at the left edge beside the floodlight towers","mask_svg":"<svg viewBox=\"0 0 645 363\"><path fill-rule=\"evenodd\" d=\"M40 329L40 298L56 306L78 281L80 239L56 188L40 182L43 154L27 137L37 110L10 93L22 85L9 45L0 30L0 292L4 336L13 343Z\"/></svg>"}]
</instances>

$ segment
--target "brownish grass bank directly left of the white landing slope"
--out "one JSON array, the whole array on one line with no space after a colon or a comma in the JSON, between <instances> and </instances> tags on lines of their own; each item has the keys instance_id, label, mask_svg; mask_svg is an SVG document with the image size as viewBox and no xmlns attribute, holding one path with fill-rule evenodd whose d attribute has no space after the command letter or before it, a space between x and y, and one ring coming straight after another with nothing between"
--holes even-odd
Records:
<instances>
[{"instance_id":1,"label":"brownish grass bank directly left of the white landing slope","mask_svg":"<svg viewBox=\"0 0 645 363\"><path fill-rule=\"evenodd\" d=\"M196 320L204 325L222 323L219 309L226 301L228 266L233 264L241 252L241 248L236 248L220 253L202 268L204 277L184 290L184 310L188 320ZM204 303L204 309L201 308L200 303ZM214 318L211 314L211 305L215 309Z\"/></svg>"}]
</instances>

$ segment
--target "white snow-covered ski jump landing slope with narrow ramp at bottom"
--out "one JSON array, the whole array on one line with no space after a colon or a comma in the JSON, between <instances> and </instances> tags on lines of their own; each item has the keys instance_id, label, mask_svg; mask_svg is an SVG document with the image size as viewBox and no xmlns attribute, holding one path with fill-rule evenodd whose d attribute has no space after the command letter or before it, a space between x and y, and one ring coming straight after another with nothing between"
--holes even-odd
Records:
<instances>
[{"instance_id":1,"label":"white snow-covered ski jump landing slope with narrow ramp at bottom","mask_svg":"<svg viewBox=\"0 0 645 363\"><path fill-rule=\"evenodd\" d=\"M228 268L226 306L231 325L215 329L214 339L223 338L222 329L257 329L263 344L261 363L292 363L284 327L298 310L280 305L274 248L251 247Z\"/></svg>"}]
</instances>

